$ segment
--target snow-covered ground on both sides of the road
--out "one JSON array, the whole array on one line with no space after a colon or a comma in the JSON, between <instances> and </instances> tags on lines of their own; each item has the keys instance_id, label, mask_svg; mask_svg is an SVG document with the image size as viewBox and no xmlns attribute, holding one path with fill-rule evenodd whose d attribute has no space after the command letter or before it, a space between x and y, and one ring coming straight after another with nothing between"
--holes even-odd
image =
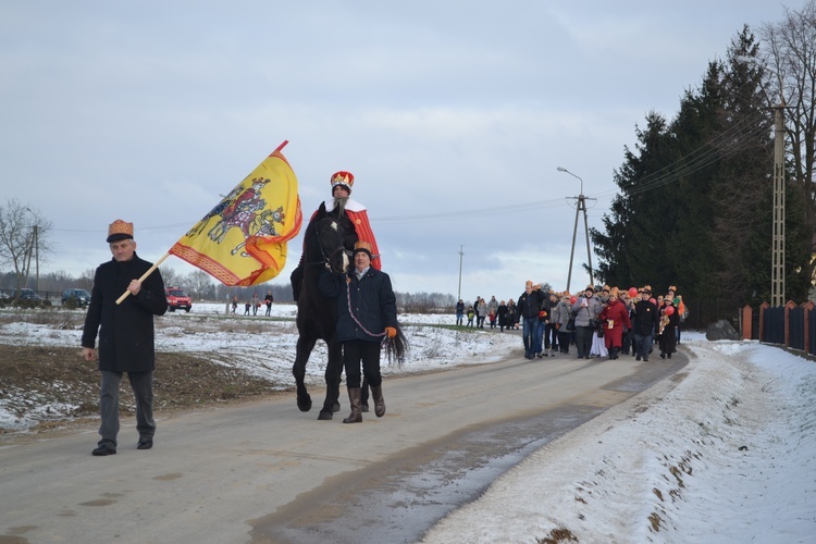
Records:
<instances>
[{"instance_id":1,"label":"snow-covered ground on both sides of the road","mask_svg":"<svg viewBox=\"0 0 816 544\"><path fill-rule=\"evenodd\" d=\"M294 311L273 306L276 317ZM294 322L262 312L224 319L223 305L198 305L190 314L168 314L157 347L207 351L223 364L288 379ZM212 319L188 324L201 314ZM521 347L514 333L421 324L452 323L452 316L400 321L411 350L401 369L384 369L386 376L493 362ZM0 342L18 342L18 327L32 343L78 346L79 331L30 323L1 326ZM684 333L681 349L691 362L678 375L537 450L424 542L534 543L555 534L593 543L816 542L816 363L700 333ZM314 361L323 356L309 364L316 385L323 369Z\"/></svg>"}]
</instances>

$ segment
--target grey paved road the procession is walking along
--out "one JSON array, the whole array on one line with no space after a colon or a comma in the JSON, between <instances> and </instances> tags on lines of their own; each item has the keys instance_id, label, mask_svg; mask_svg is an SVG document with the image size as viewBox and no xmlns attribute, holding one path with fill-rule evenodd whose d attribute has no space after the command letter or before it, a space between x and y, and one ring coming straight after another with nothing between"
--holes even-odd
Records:
<instances>
[{"instance_id":1,"label":"grey paved road the procession is walking along","mask_svg":"<svg viewBox=\"0 0 816 544\"><path fill-rule=\"evenodd\" d=\"M289 393L159 417L147 452L123 421L103 458L90 456L96 429L16 441L0 447L0 544L416 542L530 452L685 362L516 356L392 378L385 417L350 425L345 399L324 422Z\"/></svg>"}]
</instances>

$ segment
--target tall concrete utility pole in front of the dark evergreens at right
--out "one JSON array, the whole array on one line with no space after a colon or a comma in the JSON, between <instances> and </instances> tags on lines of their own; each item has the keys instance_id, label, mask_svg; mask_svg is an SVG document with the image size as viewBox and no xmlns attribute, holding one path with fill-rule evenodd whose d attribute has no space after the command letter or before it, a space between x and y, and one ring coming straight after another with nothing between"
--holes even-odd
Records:
<instances>
[{"instance_id":1,"label":"tall concrete utility pole in front of the dark evergreens at right","mask_svg":"<svg viewBox=\"0 0 816 544\"><path fill-rule=\"evenodd\" d=\"M781 90L781 89L780 89ZM784 306L784 98L774 108L774 235L770 305Z\"/></svg>"}]
</instances>

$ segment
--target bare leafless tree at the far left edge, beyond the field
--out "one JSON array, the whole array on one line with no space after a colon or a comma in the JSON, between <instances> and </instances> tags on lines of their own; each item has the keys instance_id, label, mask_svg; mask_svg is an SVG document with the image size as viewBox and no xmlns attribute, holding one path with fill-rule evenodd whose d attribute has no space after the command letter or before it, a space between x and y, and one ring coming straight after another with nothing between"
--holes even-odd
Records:
<instances>
[{"instance_id":1,"label":"bare leafless tree at the far left edge, beyond the field","mask_svg":"<svg viewBox=\"0 0 816 544\"><path fill-rule=\"evenodd\" d=\"M25 287L35 268L39 280L39 264L50 251L51 222L16 199L0 206L0 263L14 269L16 289Z\"/></svg>"}]
</instances>

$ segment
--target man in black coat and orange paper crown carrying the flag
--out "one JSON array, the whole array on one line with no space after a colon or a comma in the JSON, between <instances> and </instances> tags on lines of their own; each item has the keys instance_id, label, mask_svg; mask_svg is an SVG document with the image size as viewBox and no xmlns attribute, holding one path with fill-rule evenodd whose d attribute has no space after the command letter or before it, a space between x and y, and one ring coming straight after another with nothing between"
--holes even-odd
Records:
<instances>
[{"instance_id":1,"label":"man in black coat and orange paper crown carrying the flag","mask_svg":"<svg viewBox=\"0 0 816 544\"><path fill-rule=\"evenodd\" d=\"M119 445L119 387L122 374L136 399L137 449L153 447L153 370L156 345L153 316L168 311L164 281L158 269L139 282L152 263L136 255L133 223L116 220L108 227L108 245L113 259L100 264L94 274L94 287L85 316L82 346L83 359L97 359L95 349L99 335L99 415L101 440L91 452L95 456L114 455ZM121 304L116 300L129 296Z\"/></svg>"}]
</instances>

